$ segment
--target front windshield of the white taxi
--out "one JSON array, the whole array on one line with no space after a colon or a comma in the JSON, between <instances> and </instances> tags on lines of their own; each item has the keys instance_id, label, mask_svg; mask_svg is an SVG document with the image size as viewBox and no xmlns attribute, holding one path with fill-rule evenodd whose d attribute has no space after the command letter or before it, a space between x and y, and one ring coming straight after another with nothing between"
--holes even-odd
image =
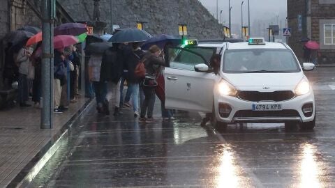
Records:
<instances>
[{"instance_id":1,"label":"front windshield of the white taxi","mask_svg":"<svg viewBox=\"0 0 335 188\"><path fill-rule=\"evenodd\" d=\"M290 49L230 49L223 58L223 72L300 72Z\"/></svg>"}]
</instances>

